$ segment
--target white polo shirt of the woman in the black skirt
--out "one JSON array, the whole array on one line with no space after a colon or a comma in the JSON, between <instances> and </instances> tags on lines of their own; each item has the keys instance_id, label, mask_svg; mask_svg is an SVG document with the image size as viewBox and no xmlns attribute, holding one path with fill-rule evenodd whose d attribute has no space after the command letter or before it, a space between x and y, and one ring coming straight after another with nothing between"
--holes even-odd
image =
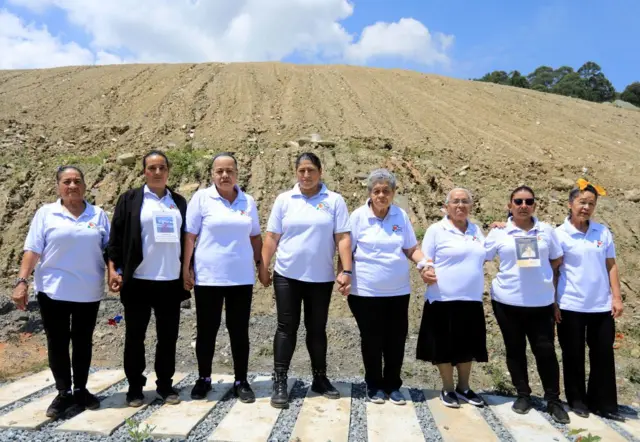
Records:
<instances>
[{"instance_id":1,"label":"white polo shirt of the woman in the black skirt","mask_svg":"<svg viewBox=\"0 0 640 442\"><path fill-rule=\"evenodd\" d=\"M422 253L433 260L438 278L427 287L426 300L482 302L486 252L480 227L468 222L462 233L445 217L427 229Z\"/></svg>"}]
</instances>

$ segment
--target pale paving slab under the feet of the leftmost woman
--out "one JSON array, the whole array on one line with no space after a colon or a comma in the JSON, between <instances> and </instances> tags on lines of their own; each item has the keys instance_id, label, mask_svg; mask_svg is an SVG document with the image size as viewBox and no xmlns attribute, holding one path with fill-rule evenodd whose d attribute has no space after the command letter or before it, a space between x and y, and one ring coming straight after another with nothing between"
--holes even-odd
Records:
<instances>
[{"instance_id":1,"label":"pale paving slab under the feet of the leftmost woman","mask_svg":"<svg viewBox=\"0 0 640 442\"><path fill-rule=\"evenodd\" d=\"M87 389L98 394L113 384L116 384L125 378L123 370L102 370L89 375ZM50 393L32 402L24 407L17 408L10 413L0 417L0 428L15 428L22 430L37 430L51 418L46 416L47 408L51 405L51 401L56 397L58 392ZM80 414L82 415L82 413ZM79 416L80 416L79 415Z\"/></svg>"}]
</instances>

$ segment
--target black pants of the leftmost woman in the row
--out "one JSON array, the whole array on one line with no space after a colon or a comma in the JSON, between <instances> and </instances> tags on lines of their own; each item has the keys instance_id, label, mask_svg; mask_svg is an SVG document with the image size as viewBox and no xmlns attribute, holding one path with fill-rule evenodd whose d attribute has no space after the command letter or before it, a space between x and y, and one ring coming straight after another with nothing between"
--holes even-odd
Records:
<instances>
[{"instance_id":1,"label":"black pants of the leftmost woman in the row","mask_svg":"<svg viewBox=\"0 0 640 442\"><path fill-rule=\"evenodd\" d=\"M96 327L100 301L57 301L39 292L38 304L47 335L49 368L56 381L56 388L71 390L71 367L73 386L77 389L86 388L91 366L93 330ZM73 346L71 358L69 342Z\"/></svg>"}]
</instances>

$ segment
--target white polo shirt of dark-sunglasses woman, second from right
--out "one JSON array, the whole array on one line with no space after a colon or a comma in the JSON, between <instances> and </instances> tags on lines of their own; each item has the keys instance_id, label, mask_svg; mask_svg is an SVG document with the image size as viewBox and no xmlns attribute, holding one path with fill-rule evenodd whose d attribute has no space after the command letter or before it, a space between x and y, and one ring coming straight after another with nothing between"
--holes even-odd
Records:
<instances>
[{"instance_id":1,"label":"white polo shirt of dark-sunglasses woman, second from right","mask_svg":"<svg viewBox=\"0 0 640 442\"><path fill-rule=\"evenodd\" d=\"M518 267L516 236L533 236L538 239L540 267ZM547 223L534 218L534 226L528 232L507 222L504 229L493 229L484 243L487 260L500 258L498 274L491 283L492 299L503 304L521 307L544 307L553 304L553 270L550 259L562 257L562 247L555 230Z\"/></svg>"}]
</instances>

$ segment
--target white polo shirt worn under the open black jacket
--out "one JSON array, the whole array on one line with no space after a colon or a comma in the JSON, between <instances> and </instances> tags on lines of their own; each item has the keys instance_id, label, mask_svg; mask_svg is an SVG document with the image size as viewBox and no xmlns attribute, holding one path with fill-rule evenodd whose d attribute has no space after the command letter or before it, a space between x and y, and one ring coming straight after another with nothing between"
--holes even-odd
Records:
<instances>
[{"instance_id":1,"label":"white polo shirt worn under the open black jacket","mask_svg":"<svg viewBox=\"0 0 640 442\"><path fill-rule=\"evenodd\" d=\"M153 213L168 212L176 215L178 235L182 226L182 215L167 189L162 198L153 193L145 184L140 211L142 226L142 262L133 273L136 279L150 281L174 281L180 278L180 241L156 242L153 234Z\"/></svg>"}]
</instances>

